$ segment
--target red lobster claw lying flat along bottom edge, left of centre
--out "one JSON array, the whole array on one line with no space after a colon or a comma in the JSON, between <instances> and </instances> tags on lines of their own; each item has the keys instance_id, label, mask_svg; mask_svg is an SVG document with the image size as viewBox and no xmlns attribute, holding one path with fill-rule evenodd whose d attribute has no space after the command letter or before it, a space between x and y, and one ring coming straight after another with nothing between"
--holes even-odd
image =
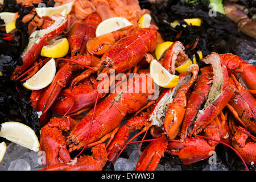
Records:
<instances>
[{"instance_id":1,"label":"red lobster claw lying flat along bottom edge, left of centre","mask_svg":"<svg viewBox=\"0 0 256 182\"><path fill-rule=\"evenodd\" d=\"M92 156L72 159L69 163L55 164L40 171L101 171L108 161L105 144L92 148Z\"/></svg>"}]
</instances>

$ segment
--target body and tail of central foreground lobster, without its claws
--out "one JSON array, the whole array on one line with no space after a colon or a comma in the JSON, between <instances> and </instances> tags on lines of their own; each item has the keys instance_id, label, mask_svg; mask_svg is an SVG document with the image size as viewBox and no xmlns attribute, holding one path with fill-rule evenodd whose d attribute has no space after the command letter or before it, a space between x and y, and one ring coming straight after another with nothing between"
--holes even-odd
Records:
<instances>
[{"instance_id":1,"label":"body and tail of central foreground lobster, without its claws","mask_svg":"<svg viewBox=\"0 0 256 182\"><path fill-rule=\"evenodd\" d=\"M139 88L139 90L136 88ZM147 92L143 92L144 88L146 88ZM135 92L136 90L137 92ZM67 139L69 151L79 149L85 145L91 121L92 130L88 144L100 140L104 135L118 127L127 113L134 113L140 110L147 104L148 98L154 95L154 92L154 81L149 75L143 74L140 77L134 77L134 82L129 82L128 80L121 90L116 93L110 93L108 97L98 104L93 120L93 110L90 110L71 131Z\"/></svg>"}]
</instances>

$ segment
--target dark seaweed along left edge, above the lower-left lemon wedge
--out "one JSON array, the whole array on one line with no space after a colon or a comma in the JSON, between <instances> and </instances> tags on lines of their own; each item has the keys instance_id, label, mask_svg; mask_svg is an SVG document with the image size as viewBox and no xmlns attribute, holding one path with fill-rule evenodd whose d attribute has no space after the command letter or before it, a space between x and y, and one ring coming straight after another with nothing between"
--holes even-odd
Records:
<instances>
[{"instance_id":1,"label":"dark seaweed along left edge, above the lower-left lemon wedge","mask_svg":"<svg viewBox=\"0 0 256 182\"><path fill-rule=\"evenodd\" d=\"M17 65L22 65L20 54L28 44L28 23L23 23L24 15L30 13L32 6L22 6L16 1L3 2L2 11L18 12L15 26L18 29L13 40L5 40L5 31L0 31L0 123L16 121L30 126L38 135L40 133L40 122L37 111L30 106L31 91L24 89L20 82L10 80ZM1 139L2 140L2 139Z\"/></svg>"}]
</instances>

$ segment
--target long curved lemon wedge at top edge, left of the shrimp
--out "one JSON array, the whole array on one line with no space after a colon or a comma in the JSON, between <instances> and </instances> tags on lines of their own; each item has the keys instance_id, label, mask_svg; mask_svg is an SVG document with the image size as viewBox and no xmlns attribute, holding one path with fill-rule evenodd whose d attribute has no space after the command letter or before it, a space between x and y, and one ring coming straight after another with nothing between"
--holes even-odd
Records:
<instances>
[{"instance_id":1,"label":"long curved lemon wedge at top edge, left of the shrimp","mask_svg":"<svg viewBox=\"0 0 256 182\"><path fill-rule=\"evenodd\" d=\"M42 16L46 16L46 15L50 16L54 14L62 14L64 16L67 16L72 10L73 3L74 2L72 1L56 7L37 7L35 10L36 10L36 14L38 14L40 18L42 18Z\"/></svg>"}]
</instances>

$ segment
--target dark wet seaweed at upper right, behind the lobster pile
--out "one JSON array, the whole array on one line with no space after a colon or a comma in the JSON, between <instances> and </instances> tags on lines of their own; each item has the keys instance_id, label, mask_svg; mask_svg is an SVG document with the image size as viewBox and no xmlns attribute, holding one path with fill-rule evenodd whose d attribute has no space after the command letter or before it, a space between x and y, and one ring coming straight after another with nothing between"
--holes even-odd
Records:
<instances>
[{"instance_id":1,"label":"dark wet seaweed at upper right, behind the lobster pile","mask_svg":"<svg viewBox=\"0 0 256 182\"><path fill-rule=\"evenodd\" d=\"M193 2L193 5L191 5L177 0L161 3L141 1L141 6L144 9L150 9L152 19L159 27L159 32L163 39L171 42L179 40L184 46L187 46L185 52L189 57L192 57L198 50L201 50L204 56L209 55L210 52L236 54L231 41L233 38L241 37L241 32L237 30L237 25L218 12L217 16L209 16L210 8L205 3L206 1ZM203 24L200 27L183 27L183 25L187 25L183 21L185 18L200 18L203 20ZM170 23L174 22L174 20L180 23L175 28L170 26ZM177 38L178 34L181 34L179 38ZM196 48L191 50L196 39L199 39L199 42Z\"/></svg>"}]
</instances>

